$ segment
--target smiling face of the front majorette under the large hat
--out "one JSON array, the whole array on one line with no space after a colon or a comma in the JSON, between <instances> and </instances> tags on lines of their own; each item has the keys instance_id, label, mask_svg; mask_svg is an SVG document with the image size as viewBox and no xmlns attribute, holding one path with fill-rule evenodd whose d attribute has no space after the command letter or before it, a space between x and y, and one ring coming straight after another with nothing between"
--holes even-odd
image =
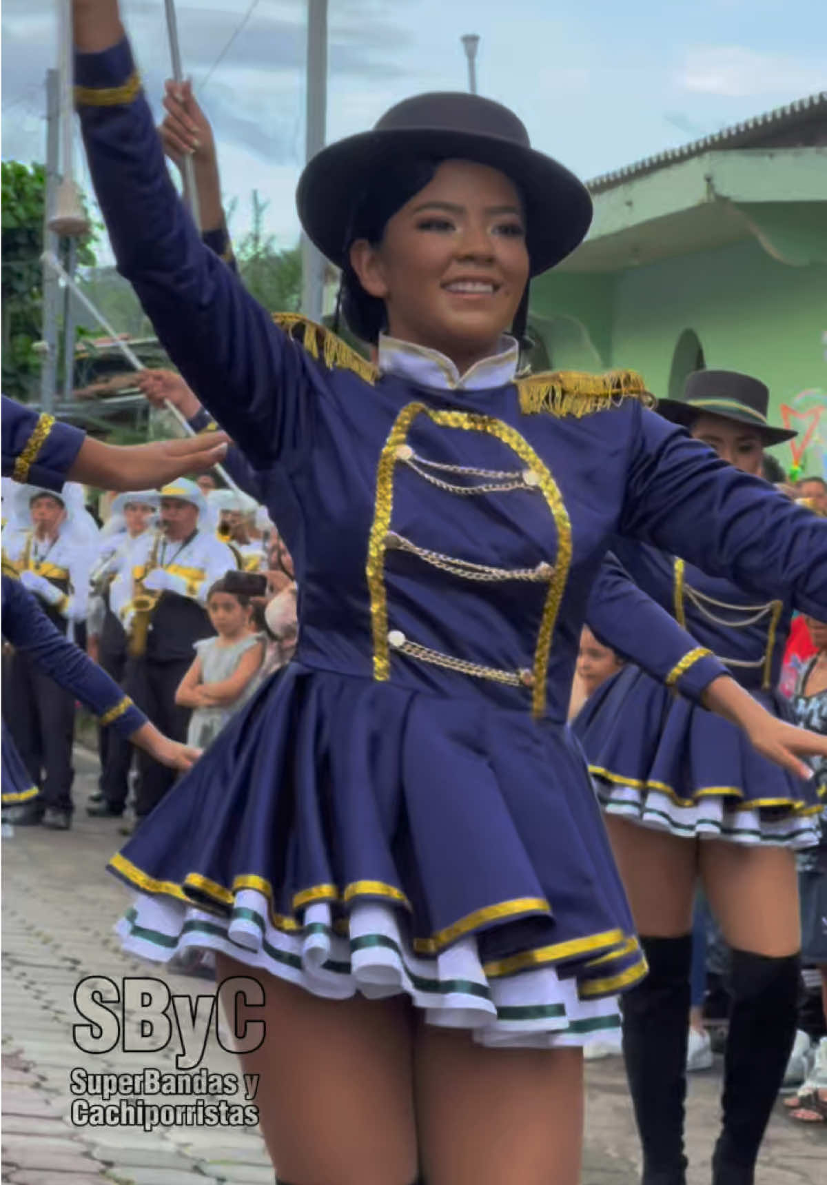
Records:
<instances>
[{"instance_id":1,"label":"smiling face of the front majorette under the large hat","mask_svg":"<svg viewBox=\"0 0 827 1185\"><path fill-rule=\"evenodd\" d=\"M517 188L487 165L443 161L379 244L357 239L351 263L385 302L391 337L440 350L462 373L496 350L528 282Z\"/></svg>"}]
</instances>

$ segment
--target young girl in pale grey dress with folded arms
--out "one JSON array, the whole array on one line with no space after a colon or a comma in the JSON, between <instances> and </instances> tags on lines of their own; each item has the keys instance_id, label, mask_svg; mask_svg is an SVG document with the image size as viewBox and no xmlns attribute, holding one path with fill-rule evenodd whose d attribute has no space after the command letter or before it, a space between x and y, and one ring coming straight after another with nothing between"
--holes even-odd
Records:
<instances>
[{"instance_id":1,"label":"young girl in pale grey dress with folded arms","mask_svg":"<svg viewBox=\"0 0 827 1185\"><path fill-rule=\"evenodd\" d=\"M254 588L243 591L245 578L248 574L231 572L210 589L207 611L217 636L195 642L195 659L175 693L177 704L194 709L187 738L199 749L206 749L258 685L264 640L252 622Z\"/></svg>"}]
</instances>

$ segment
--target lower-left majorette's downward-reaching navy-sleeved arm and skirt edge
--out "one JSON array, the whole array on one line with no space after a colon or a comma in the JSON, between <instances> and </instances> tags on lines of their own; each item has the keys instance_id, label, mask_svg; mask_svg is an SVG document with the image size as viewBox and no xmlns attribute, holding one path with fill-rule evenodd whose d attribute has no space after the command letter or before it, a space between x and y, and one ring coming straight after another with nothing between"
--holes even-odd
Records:
<instances>
[{"instance_id":1,"label":"lower-left majorette's downward-reaching navy-sleeved arm and skirt edge","mask_svg":"<svg viewBox=\"0 0 827 1185\"><path fill-rule=\"evenodd\" d=\"M25 654L39 671L55 680L73 699L94 712L102 728L146 748L156 761L174 769L188 769L198 751L161 736L128 696L82 649L70 642L27 592L13 569L2 572L2 636L18 654ZM2 725L2 805L31 803L38 787Z\"/></svg>"}]
</instances>

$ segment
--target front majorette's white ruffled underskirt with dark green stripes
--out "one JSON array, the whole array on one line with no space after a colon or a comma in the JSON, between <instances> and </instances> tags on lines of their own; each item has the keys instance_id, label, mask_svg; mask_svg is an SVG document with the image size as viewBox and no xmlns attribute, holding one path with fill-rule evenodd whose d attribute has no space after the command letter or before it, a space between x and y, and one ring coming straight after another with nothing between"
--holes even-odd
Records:
<instances>
[{"instance_id":1,"label":"front majorette's white ruffled underskirt with dark green stripes","mask_svg":"<svg viewBox=\"0 0 827 1185\"><path fill-rule=\"evenodd\" d=\"M123 948L168 962L185 952L223 952L251 969L269 972L314 995L342 1000L406 993L429 1024L469 1029L489 1048L553 1049L594 1042L620 1048L616 997L582 1000L573 979L553 967L487 979L474 935L434 957L416 955L397 915L383 904L354 903L347 935L334 933L326 902L309 905L303 928L284 933L269 921L255 890L236 895L232 914L216 914L169 897L139 892L115 927Z\"/></svg>"}]
</instances>

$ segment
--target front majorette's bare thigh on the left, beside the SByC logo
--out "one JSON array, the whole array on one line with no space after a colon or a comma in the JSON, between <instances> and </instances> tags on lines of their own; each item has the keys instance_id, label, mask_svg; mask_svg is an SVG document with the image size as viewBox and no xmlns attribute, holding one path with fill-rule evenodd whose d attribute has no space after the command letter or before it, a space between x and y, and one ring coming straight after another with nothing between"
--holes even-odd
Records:
<instances>
[{"instance_id":1,"label":"front majorette's bare thigh on the left, beside the SByC logo","mask_svg":"<svg viewBox=\"0 0 827 1185\"><path fill-rule=\"evenodd\" d=\"M261 1128L291 1185L412 1185L412 1017L404 997L323 1000L227 955L217 980L255 978L267 1036L242 1056L261 1075ZM252 1017L252 1013L250 1014Z\"/></svg>"}]
</instances>

